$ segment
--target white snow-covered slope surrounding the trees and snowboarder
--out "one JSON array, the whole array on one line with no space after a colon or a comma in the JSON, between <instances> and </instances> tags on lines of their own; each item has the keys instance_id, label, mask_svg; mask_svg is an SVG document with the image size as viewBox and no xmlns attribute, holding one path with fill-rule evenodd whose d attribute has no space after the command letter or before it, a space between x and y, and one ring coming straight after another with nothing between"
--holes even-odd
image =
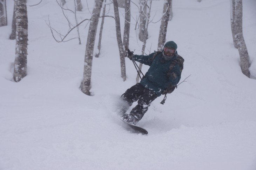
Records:
<instances>
[{"instance_id":1,"label":"white snow-covered slope surrounding the trees and snowboarder","mask_svg":"<svg viewBox=\"0 0 256 170\"><path fill-rule=\"evenodd\" d=\"M66 1L73 8L73 1ZM83 2L83 12L77 14L80 21L92 12L93 1L87 2L88 8ZM163 0L152 3L154 22L161 17L162 5ZM252 78L256 77L255 7L255 0L243 0ZM185 59L181 81L191 76L168 95L164 105L163 96L151 104L138 123L148 135L125 130L114 113L118 97L135 84L136 71L126 59L127 81L122 81L112 18L105 18L101 55L93 59L94 96L87 96L79 90L86 23L80 27L82 45L78 40L56 43L46 25L48 15L56 30L65 34L68 29L57 3L43 0L28 7L28 75L15 83L15 40L8 39L13 1L7 2L7 8L9 24L0 27L1 170L256 169L256 81L241 73L232 44L229 0L173 2L167 40L178 44ZM134 18L136 9L132 4ZM123 13L120 9L121 17ZM68 15L72 21L74 16ZM130 49L140 54L142 43L135 21L132 24ZM149 25L150 52L157 48L159 26L159 22ZM76 35L72 32L70 37ZM142 71L147 69L143 66Z\"/></svg>"}]
</instances>

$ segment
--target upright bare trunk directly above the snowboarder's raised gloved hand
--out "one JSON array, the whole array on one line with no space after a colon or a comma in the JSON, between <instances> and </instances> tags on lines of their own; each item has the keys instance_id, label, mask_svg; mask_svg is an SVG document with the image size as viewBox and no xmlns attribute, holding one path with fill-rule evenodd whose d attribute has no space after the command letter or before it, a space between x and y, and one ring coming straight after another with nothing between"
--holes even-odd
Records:
<instances>
[{"instance_id":1,"label":"upright bare trunk directly above the snowboarder's raised gloved hand","mask_svg":"<svg viewBox=\"0 0 256 170\"><path fill-rule=\"evenodd\" d=\"M123 46L129 48L131 10L130 0L125 0L125 21L123 31Z\"/></svg>"}]
</instances>

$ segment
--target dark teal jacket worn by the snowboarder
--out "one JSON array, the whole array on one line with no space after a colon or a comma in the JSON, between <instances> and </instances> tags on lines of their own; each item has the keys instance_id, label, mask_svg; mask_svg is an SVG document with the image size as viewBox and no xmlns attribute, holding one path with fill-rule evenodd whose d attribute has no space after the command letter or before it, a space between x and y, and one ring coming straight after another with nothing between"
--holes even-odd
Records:
<instances>
[{"instance_id":1,"label":"dark teal jacket worn by the snowboarder","mask_svg":"<svg viewBox=\"0 0 256 170\"><path fill-rule=\"evenodd\" d=\"M164 60L163 54L159 53L155 56L154 53L148 56L133 55L133 59L142 64L150 66L148 72L145 74L143 79L140 81L142 86L147 89L154 91L158 96L161 96L163 91L168 87L169 84L176 85L181 79L180 66L177 63L171 70L173 76L168 76L168 70L171 62L177 59L177 54L174 55L170 60Z\"/></svg>"}]
</instances>

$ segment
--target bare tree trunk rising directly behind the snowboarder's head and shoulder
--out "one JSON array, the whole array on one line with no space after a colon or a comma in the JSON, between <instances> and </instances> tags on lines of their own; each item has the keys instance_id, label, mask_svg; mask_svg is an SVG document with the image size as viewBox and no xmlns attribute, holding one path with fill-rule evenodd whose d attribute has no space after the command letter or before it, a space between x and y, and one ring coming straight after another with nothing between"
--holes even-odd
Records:
<instances>
[{"instance_id":1,"label":"bare tree trunk rising directly behind the snowboarder's head and shoulder","mask_svg":"<svg viewBox=\"0 0 256 170\"><path fill-rule=\"evenodd\" d=\"M157 51L162 50L164 43L166 41L166 31L167 31L168 21L170 17L170 7L171 7L170 4L171 4L171 0L164 1L164 5L163 5L164 16L162 17L162 21L160 25Z\"/></svg>"}]
</instances>

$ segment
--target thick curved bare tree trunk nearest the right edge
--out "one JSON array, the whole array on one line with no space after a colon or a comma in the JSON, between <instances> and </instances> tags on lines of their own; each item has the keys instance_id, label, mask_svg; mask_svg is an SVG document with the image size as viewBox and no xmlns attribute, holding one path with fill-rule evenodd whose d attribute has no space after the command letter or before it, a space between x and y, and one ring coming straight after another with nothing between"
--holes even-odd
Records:
<instances>
[{"instance_id":1,"label":"thick curved bare tree trunk nearest the right edge","mask_svg":"<svg viewBox=\"0 0 256 170\"><path fill-rule=\"evenodd\" d=\"M242 73L247 77L250 77L249 67L249 55L247 51L247 47L244 42L243 37L243 5L242 0L235 0L235 28L236 28L236 42L237 42L237 49L239 52L240 60L241 60L241 69Z\"/></svg>"}]
</instances>

